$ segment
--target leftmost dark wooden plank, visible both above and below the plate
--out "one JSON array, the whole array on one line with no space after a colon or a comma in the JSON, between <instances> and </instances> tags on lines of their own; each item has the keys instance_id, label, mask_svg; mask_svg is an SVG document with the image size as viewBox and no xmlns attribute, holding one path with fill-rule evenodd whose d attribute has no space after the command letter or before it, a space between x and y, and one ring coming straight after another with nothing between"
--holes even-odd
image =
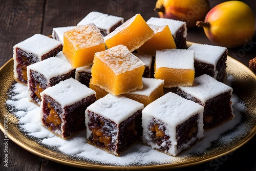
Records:
<instances>
[{"instance_id":1,"label":"leftmost dark wooden plank, visible both above and below the plate","mask_svg":"<svg viewBox=\"0 0 256 171\"><path fill-rule=\"evenodd\" d=\"M15 44L35 33L41 33L44 6L44 0L0 1L1 67L12 58ZM1 161L5 154L4 142L4 134L1 132ZM41 161L39 159L38 156L8 140L8 168L2 163L0 170L40 170Z\"/></svg>"}]
</instances>

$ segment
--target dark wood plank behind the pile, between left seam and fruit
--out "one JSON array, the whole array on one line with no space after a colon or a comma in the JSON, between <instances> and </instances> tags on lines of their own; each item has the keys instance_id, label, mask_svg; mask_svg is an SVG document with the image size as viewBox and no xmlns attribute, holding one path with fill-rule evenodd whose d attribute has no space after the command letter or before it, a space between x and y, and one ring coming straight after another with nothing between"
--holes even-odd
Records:
<instances>
[{"instance_id":1,"label":"dark wood plank behind the pile, between left seam and fruit","mask_svg":"<svg viewBox=\"0 0 256 171\"><path fill-rule=\"evenodd\" d=\"M151 16L158 16L154 11L155 3L135 0L47 1L42 34L51 35L54 27L76 26L91 11L121 16L124 20L140 13L147 20Z\"/></svg>"}]
</instances>

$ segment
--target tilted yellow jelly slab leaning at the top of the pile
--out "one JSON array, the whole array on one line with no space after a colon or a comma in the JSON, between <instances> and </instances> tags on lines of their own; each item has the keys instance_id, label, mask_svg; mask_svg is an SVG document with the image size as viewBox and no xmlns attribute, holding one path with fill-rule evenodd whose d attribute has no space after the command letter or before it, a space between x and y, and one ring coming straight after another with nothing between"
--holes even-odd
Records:
<instances>
[{"instance_id":1,"label":"tilted yellow jelly slab leaning at the top of the pile","mask_svg":"<svg viewBox=\"0 0 256 171\"><path fill-rule=\"evenodd\" d=\"M140 14L136 14L109 35L104 37L106 47L126 46L131 52L138 49L145 41L153 37L154 31Z\"/></svg>"}]
</instances>

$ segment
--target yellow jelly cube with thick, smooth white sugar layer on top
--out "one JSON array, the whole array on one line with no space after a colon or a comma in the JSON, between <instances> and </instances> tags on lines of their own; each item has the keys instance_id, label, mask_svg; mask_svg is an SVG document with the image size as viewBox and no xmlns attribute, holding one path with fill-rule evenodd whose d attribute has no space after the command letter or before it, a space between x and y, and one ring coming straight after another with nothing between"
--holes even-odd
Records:
<instances>
[{"instance_id":1,"label":"yellow jelly cube with thick, smooth white sugar layer on top","mask_svg":"<svg viewBox=\"0 0 256 171\"><path fill-rule=\"evenodd\" d=\"M155 74L165 88L191 86L195 77L194 51L166 49L156 51Z\"/></svg>"}]
</instances>

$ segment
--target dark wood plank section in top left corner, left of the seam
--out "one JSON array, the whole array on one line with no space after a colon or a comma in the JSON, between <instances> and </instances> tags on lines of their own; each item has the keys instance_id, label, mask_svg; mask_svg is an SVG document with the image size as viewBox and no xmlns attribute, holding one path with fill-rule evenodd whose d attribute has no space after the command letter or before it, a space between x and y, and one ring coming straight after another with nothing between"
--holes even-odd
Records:
<instances>
[{"instance_id":1,"label":"dark wood plank section in top left corner, left of the seam","mask_svg":"<svg viewBox=\"0 0 256 171\"><path fill-rule=\"evenodd\" d=\"M41 33L44 0L0 1L0 65L12 58L12 47Z\"/></svg>"}]
</instances>

